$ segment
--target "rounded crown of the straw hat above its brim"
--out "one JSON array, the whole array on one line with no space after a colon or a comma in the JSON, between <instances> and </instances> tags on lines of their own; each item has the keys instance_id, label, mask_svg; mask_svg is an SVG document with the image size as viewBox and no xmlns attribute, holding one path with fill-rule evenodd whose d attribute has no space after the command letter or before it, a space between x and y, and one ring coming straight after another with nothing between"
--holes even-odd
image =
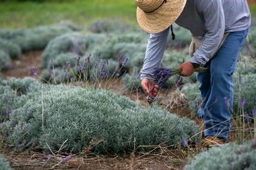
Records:
<instances>
[{"instance_id":1,"label":"rounded crown of the straw hat above its brim","mask_svg":"<svg viewBox=\"0 0 256 170\"><path fill-rule=\"evenodd\" d=\"M166 0L135 0L137 6L144 12L150 13L158 9Z\"/></svg>"}]
</instances>

